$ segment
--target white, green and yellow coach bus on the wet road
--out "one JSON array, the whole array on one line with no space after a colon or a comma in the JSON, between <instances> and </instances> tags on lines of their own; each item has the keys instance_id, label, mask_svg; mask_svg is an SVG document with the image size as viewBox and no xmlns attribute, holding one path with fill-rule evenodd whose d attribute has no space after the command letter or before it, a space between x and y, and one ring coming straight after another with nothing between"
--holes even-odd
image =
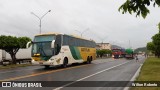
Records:
<instances>
[{"instance_id":1,"label":"white, green and yellow coach bus on the wet road","mask_svg":"<svg viewBox=\"0 0 160 90\"><path fill-rule=\"evenodd\" d=\"M96 59L96 43L93 40L50 33L36 35L31 44L32 64L43 65L45 68L55 65L66 67L72 63L91 63Z\"/></svg>"}]
</instances>

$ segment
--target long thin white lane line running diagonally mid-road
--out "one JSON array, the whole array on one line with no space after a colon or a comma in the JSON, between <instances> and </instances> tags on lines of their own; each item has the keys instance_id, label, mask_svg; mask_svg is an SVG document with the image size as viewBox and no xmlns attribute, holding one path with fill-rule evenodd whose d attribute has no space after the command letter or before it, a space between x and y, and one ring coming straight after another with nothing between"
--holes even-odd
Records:
<instances>
[{"instance_id":1,"label":"long thin white lane line running diagonally mid-road","mask_svg":"<svg viewBox=\"0 0 160 90\"><path fill-rule=\"evenodd\" d=\"M130 61L128 61L128 62L130 62ZM89 76L86 76L86 77L84 77L84 78L78 79L78 80L76 80L76 81L74 81L74 82L65 84L65 85L63 85L63 86L61 86L61 87L57 87L57 88L55 88L55 89L53 89L53 90L60 90L60 89L62 89L62 88L64 88L64 87L69 86L69 85L71 85L71 84L74 84L74 83L76 83L76 82L78 82L78 81L82 81L82 80L84 80L84 79L87 79L87 78L89 78L89 77L95 76L95 75L100 74L100 73L102 73L102 72L105 72L105 71L107 71L107 70L113 69L113 68L118 67L118 66L121 66L121 65L123 65L123 64L126 64L126 63L128 63L128 62L125 62L125 63L122 63L122 64L118 64L118 65L113 66L113 67L110 67L110 68L106 68L106 69L104 69L104 70L102 70L102 71L99 71L99 72L96 72L96 73L91 74L91 75L89 75Z\"/></svg>"}]
</instances>

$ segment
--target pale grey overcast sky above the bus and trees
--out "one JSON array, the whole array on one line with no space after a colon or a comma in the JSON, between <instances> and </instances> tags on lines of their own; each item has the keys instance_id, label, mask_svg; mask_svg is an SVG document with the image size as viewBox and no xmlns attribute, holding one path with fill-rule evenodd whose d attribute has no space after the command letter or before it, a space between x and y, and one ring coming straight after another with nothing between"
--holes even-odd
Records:
<instances>
[{"instance_id":1,"label":"pale grey overcast sky above the bus and trees","mask_svg":"<svg viewBox=\"0 0 160 90\"><path fill-rule=\"evenodd\" d=\"M118 8L126 0L0 0L0 34L28 36L39 33L59 32L80 35L96 42L116 44L132 48L146 46L158 32L160 8L150 7L146 19L121 14ZM76 31L78 30L78 31ZM85 31L87 30L87 31Z\"/></svg>"}]
</instances>

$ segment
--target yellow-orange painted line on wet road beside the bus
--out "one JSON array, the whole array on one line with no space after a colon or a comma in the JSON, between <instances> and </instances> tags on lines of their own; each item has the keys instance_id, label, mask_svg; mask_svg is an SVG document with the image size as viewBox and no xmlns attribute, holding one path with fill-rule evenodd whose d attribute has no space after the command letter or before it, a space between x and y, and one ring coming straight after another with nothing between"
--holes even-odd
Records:
<instances>
[{"instance_id":1,"label":"yellow-orange painted line on wet road beside the bus","mask_svg":"<svg viewBox=\"0 0 160 90\"><path fill-rule=\"evenodd\" d=\"M23 78L28 78L28 77L34 77L34 76L39 76L39 75L43 75L43 74L49 74L49 73L53 73L53 72L59 72L59 71L63 71L63 70L69 70L69 69L74 69L74 68L79 68L79 67L90 66L90 65L93 65L93 64L80 65L80 66L69 67L69 68L64 68L64 69L59 69L59 70L54 70L54 71L46 71L46 72L34 73L34 74L26 75L26 76L13 77L13 78L9 78L9 79L0 80L0 82L1 81L12 81L12 80L23 79Z\"/></svg>"}]
</instances>

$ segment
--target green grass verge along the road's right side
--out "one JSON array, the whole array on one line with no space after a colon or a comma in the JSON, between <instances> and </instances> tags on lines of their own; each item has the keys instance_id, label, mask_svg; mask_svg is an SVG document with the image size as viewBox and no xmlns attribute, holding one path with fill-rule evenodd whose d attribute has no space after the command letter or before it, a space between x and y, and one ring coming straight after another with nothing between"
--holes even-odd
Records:
<instances>
[{"instance_id":1,"label":"green grass verge along the road's right side","mask_svg":"<svg viewBox=\"0 0 160 90\"><path fill-rule=\"evenodd\" d=\"M160 81L160 58L147 58L135 81ZM131 87L130 90L160 90L160 87Z\"/></svg>"}]
</instances>

